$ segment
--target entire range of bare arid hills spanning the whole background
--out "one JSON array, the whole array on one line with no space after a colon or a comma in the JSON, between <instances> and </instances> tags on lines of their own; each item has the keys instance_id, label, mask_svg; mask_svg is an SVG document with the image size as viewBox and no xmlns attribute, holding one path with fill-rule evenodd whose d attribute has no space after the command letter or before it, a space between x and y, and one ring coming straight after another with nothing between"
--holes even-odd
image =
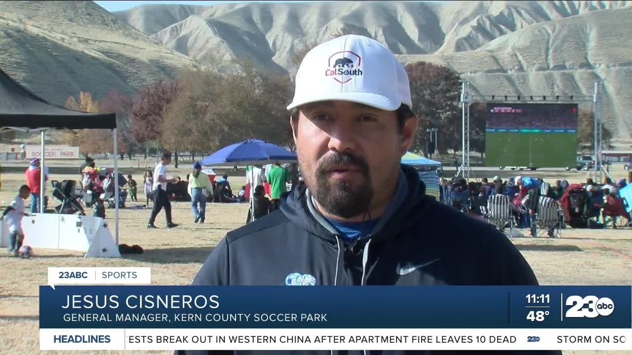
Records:
<instances>
[{"instance_id":1,"label":"entire range of bare arid hills spanning the whole background","mask_svg":"<svg viewBox=\"0 0 632 355\"><path fill-rule=\"evenodd\" d=\"M0 66L58 103L80 90L97 99L130 93L191 65L250 61L292 75L305 44L359 33L404 63L453 68L479 94L591 95L604 80L605 124L617 144L632 142L631 1L159 4L116 13L92 1L0 6Z\"/></svg>"}]
</instances>

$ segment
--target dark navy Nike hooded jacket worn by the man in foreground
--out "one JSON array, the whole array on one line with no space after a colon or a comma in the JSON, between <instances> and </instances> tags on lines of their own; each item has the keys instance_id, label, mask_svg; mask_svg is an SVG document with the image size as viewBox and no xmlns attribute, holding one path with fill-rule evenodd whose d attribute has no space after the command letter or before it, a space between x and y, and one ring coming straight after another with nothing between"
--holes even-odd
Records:
<instances>
[{"instance_id":1,"label":"dark navy Nike hooded jacket worn by the man in foreground","mask_svg":"<svg viewBox=\"0 0 632 355\"><path fill-rule=\"evenodd\" d=\"M289 274L316 285L537 285L532 268L494 226L425 195L415 169L402 165L408 196L380 231L351 242L327 231L308 210L300 184L272 214L229 232L212 250L194 285L285 285ZM437 260L410 274L399 265ZM450 354L444 351L176 351L201 354ZM458 352L461 353L461 352ZM514 352L472 352L513 354ZM561 354L521 351L516 354Z\"/></svg>"}]
</instances>

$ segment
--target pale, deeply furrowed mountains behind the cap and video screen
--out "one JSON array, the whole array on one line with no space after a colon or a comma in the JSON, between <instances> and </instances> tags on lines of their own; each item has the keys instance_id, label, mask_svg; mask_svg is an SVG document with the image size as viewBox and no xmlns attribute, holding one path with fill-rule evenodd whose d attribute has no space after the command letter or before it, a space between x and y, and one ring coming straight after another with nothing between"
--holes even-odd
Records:
<instances>
[{"instance_id":1,"label":"pale, deeply furrowed mountains behind the cap and video screen","mask_svg":"<svg viewBox=\"0 0 632 355\"><path fill-rule=\"evenodd\" d=\"M214 66L247 59L260 69L294 73L291 59L303 45L353 32L388 45L406 63L450 66L478 94L591 95L593 80L605 80L605 124L625 143L632 141L631 5L345 1L152 5L114 15Z\"/></svg>"}]
</instances>

